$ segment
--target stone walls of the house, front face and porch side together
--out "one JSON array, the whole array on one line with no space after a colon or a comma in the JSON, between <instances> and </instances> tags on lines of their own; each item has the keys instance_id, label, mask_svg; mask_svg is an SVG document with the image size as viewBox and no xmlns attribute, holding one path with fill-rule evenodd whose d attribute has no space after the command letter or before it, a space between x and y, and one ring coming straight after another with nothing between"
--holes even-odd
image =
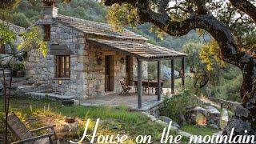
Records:
<instances>
[{"instance_id":1,"label":"stone walls of the house, front face and porch side together","mask_svg":"<svg viewBox=\"0 0 256 144\"><path fill-rule=\"evenodd\" d=\"M70 55L70 78L55 78L55 56L47 54L43 58L36 51L30 51L26 59L26 78L30 83L48 84L51 91L71 95L79 99L105 95L105 56L114 58L114 92L120 93L120 80L125 77L126 66L120 59L125 55L97 47L86 42L84 34L61 23L51 26L50 44L66 45ZM98 65L97 58L102 58ZM137 60L134 58L134 78L137 78ZM142 75L147 78L147 62L142 62Z\"/></svg>"}]
</instances>

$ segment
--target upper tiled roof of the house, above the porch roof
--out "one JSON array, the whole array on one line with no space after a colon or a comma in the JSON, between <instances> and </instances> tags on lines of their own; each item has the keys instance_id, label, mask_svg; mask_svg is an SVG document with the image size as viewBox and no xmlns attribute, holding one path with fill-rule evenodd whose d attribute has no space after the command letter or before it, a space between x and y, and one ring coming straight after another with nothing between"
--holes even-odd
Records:
<instances>
[{"instance_id":1,"label":"upper tiled roof of the house, above the porch roof","mask_svg":"<svg viewBox=\"0 0 256 144\"><path fill-rule=\"evenodd\" d=\"M73 18L69 16L64 16L58 14L56 18L58 22L61 22L65 25L72 26L75 29L81 30L86 34L98 34L103 36L117 37L117 38L126 38L126 39L139 39L139 40L147 40L139 34L135 34L130 30L123 30L123 32L118 32L113 30L113 28L106 23L101 22L91 22L80 18Z\"/></svg>"}]
</instances>

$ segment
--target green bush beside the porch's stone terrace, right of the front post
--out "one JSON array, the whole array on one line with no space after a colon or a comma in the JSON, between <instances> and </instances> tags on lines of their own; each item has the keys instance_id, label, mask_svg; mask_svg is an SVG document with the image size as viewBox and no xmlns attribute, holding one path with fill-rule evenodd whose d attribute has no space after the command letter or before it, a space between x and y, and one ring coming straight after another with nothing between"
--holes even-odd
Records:
<instances>
[{"instance_id":1,"label":"green bush beside the porch's stone terrace, right of the front post","mask_svg":"<svg viewBox=\"0 0 256 144\"><path fill-rule=\"evenodd\" d=\"M189 90L184 90L181 94L164 99L163 105L161 114L172 118L175 122L181 123L181 116L186 114L188 106L202 106L202 103Z\"/></svg>"}]
</instances>

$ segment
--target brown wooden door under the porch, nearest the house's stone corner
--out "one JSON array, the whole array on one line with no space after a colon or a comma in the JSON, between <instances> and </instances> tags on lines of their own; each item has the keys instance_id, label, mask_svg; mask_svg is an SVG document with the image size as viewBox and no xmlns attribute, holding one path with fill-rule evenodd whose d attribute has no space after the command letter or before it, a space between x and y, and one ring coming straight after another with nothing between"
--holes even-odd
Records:
<instances>
[{"instance_id":1,"label":"brown wooden door under the porch, nearest the house's stone corner","mask_svg":"<svg viewBox=\"0 0 256 144\"><path fill-rule=\"evenodd\" d=\"M105 92L114 91L114 58L112 55L105 57Z\"/></svg>"}]
</instances>

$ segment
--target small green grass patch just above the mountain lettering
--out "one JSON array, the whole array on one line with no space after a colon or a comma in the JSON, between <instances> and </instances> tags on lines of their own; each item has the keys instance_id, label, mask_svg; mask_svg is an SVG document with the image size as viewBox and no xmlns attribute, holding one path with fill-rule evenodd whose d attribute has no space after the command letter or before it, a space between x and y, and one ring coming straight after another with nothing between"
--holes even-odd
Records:
<instances>
[{"instance_id":1,"label":"small green grass patch just above the mountain lettering","mask_svg":"<svg viewBox=\"0 0 256 144\"><path fill-rule=\"evenodd\" d=\"M214 133L217 133L220 130L216 130L207 126L194 126L194 125L185 125L181 126L181 130L186 131L190 134L194 135L213 135Z\"/></svg>"}]
</instances>

